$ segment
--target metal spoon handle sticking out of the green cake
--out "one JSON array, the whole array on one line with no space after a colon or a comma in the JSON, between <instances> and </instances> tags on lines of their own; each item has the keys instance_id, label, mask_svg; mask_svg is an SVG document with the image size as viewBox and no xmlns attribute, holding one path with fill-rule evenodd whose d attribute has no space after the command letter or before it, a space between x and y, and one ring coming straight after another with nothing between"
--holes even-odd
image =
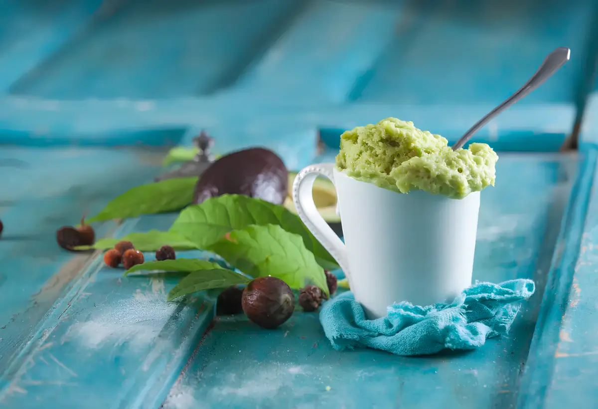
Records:
<instances>
[{"instance_id":1,"label":"metal spoon handle sticking out of the green cake","mask_svg":"<svg viewBox=\"0 0 598 409\"><path fill-rule=\"evenodd\" d=\"M502 102L501 105L498 105L498 107L490 111L489 114L476 122L475 125L469 129L469 131L465 132L465 135L463 135L460 140L453 145L453 150L463 147L469 138L471 138L475 132L480 131L480 129L490 122L493 117L497 116L520 99L525 98L527 94L541 86L544 81L548 80L548 78L557 72L559 68L568 62L570 52L571 50L569 50L567 47L559 47L548 54L548 56L544 59L544 62L542 62L540 68L538 68L538 71L536 71L536 74L533 74L533 77L530 78L517 92L509 96L509 98Z\"/></svg>"}]
</instances>

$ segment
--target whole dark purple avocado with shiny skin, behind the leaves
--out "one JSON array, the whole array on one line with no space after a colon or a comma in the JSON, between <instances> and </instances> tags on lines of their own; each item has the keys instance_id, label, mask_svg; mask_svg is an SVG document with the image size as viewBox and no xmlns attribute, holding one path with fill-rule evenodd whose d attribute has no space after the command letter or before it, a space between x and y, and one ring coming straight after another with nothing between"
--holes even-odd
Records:
<instances>
[{"instance_id":1,"label":"whole dark purple avocado with shiny skin, behind the leaves","mask_svg":"<svg viewBox=\"0 0 598 409\"><path fill-rule=\"evenodd\" d=\"M288 189L288 170L271 150L251 148L222 156L199 178L193 203L221 195L245 195L283 204Z\"/></svg>"}]
</instances>

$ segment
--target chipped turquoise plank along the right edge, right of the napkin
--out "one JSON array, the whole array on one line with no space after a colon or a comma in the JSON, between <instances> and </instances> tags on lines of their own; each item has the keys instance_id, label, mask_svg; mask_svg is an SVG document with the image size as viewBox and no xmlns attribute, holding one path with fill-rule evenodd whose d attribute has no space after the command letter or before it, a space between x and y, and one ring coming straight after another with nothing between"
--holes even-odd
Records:
<instances>
[{"instance_id":1,"label":"chipped turquoise plank along the right edge, right of the napkin","mask_svg":"<svg viewBox=\"0 0 598 409\"><path fill-rule=\"evenodd\" d=\"M591 112L596 97L588 104L588 133L582 133L582 149L588 165L582 168L583 183L574 191L578 198L569 205L569 218L563 229L569 240L562 238L555 256L560 262L551 272L543 303L543 311L535 334L535 344L523 378L518 407L546 408L575 405L593 408L596 392L596 267L598 255L595 241L598 219L596 183L596 132L591 131ZM573 196L575 198L575 196Z\"/></svg>"}]
</instances>

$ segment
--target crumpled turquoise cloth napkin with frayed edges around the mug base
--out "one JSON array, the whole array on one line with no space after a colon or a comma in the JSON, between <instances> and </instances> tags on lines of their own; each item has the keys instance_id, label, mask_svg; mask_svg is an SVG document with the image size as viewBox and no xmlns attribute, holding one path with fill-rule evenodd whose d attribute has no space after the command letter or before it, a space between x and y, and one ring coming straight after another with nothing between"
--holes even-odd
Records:
<instances>
[{"instance_id":1,"label":"crumpled turquoise cloth napkin with frayed edges around the mug base","mask_svg":"<svg viewBox=\"0 0 598 409\"><path fill-rule=\"evenodd\" d=\"M535 291L532 280L476 283L451 304L417 307L399 302L386 317L368 320L351 292L322 306L320 322L337 350L374 348L396 355L429 355L444 349L481 347L487 338L505 335L520 301Z\"/></svg>"}]
</instances>

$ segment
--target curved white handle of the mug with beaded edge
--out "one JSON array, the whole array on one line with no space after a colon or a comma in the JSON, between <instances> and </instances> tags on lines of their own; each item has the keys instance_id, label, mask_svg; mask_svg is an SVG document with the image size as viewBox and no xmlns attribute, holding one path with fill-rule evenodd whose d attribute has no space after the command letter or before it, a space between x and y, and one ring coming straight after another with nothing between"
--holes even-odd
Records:
<instances>
[{"instance_id":1,"label":"curved white handle of the mug with beaded edge","mask_svg":"<svg viewBox=\"0 0 598 409\"><path fill-rule=\"evenodd\" d=\"M347 250L344 243L338 238L332 228L328 226L328 223L325 222L324 218L318 212L316 204L313 202L313 182L318 175L327 177L334 184L334 187L336 187L333 169L334 163L318 163L317 165L310 165L303 168L293 182L293 203L297 214L301 217L307 229L322 243L322 246L328 250L328 253L334 257L340 268L343 269L345 277L349 280L349 286L351 286Z\"/></svg>"}]
</instances>

